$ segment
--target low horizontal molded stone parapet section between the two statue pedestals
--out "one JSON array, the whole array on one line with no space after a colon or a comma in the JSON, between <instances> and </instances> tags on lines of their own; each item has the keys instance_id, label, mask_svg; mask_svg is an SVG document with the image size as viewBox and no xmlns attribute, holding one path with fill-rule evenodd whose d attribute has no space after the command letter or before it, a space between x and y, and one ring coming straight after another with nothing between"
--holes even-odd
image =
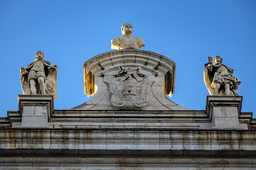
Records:
<instances>
[{"instance_id":1,"label":"low horizontal molded stone parapet section between the two statue pedestals","mask_svg":"<svg viewBox=\"0 0 256 170\"><path fill-rule=\"evenodd\" d=\"M206 111L54 111L49 127L210 129Z\"/></svg>"}]
</instances>

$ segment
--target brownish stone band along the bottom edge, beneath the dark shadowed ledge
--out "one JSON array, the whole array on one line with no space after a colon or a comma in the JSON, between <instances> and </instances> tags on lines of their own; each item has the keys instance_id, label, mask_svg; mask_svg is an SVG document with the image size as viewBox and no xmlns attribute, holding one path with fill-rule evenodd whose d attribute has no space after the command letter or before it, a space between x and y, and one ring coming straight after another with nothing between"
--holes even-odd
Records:
<instances>
[{"instance_id":1,"label":"brownish stone band along the bottom edge, beneath the dark shadowed ledge","mask_svg":"<svg viewBox=\"0 0 256 170\"><path fill-rule=\"evenodd\" d=\"M82 169L104 169L104 170L131 170L131 169L149 169L149 170L195 170L195 169L255 169L255 159L232 159L232 158L145 158L132 157L125 159L122 157L10 157L1 158L11 167L1 168L4 170L82 170ZM27 164L23 164L23 162ZM32 164L32 165L31 165Z\"/></svg>"}]
</instances>

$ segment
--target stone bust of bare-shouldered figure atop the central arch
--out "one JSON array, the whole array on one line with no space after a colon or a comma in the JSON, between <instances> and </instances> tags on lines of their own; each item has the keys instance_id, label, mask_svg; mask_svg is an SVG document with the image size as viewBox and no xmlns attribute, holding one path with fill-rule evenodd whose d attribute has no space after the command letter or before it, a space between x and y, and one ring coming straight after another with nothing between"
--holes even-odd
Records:
<instances>
[{"instance_id":1,"label":"stone bust of bare-shouldered figure atop the central arch","mask_svg":"<svg viewBox=\"0 0 256 170\"><path fill-rule=\"evenodd\" d=\"M142 38L137 38L132 36L132 24L124 23L122 25L122 37L114 38L111 41L112 49L122 50L126 48L139 49L140 47L144 47L144 41Z\"/></svg>"}]
</instances>

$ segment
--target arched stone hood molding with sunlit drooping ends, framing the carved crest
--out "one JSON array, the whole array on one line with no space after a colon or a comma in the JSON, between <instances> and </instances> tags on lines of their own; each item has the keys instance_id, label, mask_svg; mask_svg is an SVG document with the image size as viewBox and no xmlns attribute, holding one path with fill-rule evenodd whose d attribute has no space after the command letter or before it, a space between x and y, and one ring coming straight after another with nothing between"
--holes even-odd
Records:
<instances>
[{"instance_id":1,"label":"arched stone hood molding with sunlit drooping ends, framing the carved crest","mask_svg":"<svg viewBox=\"0 0 256 170\"><path fill-rule=\"evenodd\" d=\"M165 77L164 94L174 94L175 62L163 55L145 50L116 50L92 57L84 64L85 94L95 94L95 77L117 74L119 67L141 67L145 74ZM97 84L98 86L98 84Z\"/></svg>"}]
</instances>

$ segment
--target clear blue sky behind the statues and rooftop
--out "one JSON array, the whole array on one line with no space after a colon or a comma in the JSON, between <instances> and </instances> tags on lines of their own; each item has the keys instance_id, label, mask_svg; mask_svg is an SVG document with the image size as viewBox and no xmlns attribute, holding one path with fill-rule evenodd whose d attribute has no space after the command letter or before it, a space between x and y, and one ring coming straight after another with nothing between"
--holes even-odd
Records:
<instances>
[{"instance_id":1,"label":"clear blue sky behind the statues and rooftop","mask_svg":"<svg viewBox=\"0 0 256 170\"><path fill-rule=\"evenodd\" d=\"M17 111L22 94L20 67L43 50L58 64L55 109L88 100L83 92L82 64L111 51L123 23L148 50L176 62L171 100L195 110L206 108L203 82L208 56L220 55L242 84L242 111L256 114L256 1L7 1L0 0L0 117Z\"/></svg>"}]
</instances>

